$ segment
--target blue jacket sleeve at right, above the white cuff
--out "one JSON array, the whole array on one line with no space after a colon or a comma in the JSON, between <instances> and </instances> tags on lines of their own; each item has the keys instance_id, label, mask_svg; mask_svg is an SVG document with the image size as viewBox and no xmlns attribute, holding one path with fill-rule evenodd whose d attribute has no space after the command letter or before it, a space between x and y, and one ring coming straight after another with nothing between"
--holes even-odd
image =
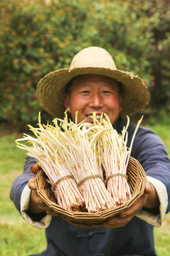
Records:
<instances>
[{"instance_id":1,"label":"blue jacket sleeve at right, above the white cuff","mask_svg":"<svg viewBox=\"0 0 170 256\"><path fill-rule=\"evenodd\" d=\"M168 213L170 210L170 159L162 139L151 129L141 127L135 138L132 156L140 161L147 176L156 178L166 187L168 195L166 213Z\"/></svg>"}]
</instances>

